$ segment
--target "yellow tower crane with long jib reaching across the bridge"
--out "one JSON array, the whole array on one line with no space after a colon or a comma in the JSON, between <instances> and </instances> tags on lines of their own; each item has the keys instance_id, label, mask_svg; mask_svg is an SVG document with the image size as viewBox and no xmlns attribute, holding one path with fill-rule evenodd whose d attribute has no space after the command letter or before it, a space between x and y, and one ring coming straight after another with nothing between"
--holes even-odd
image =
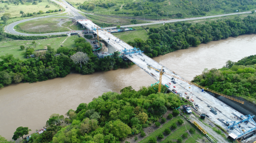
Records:
<instances>
[{"instance_id":1,"label":"yellow tower crane with long jib reaching across the bridge","mask_svg":"<svg viewBox=\"0 0 256 143\"><path fill-rule=\"evenodd\" d=\"M155 68L151 67L150 65L148 65L148 67L149 67L149 68L152 68L152 69L155 69ZM241 101L241 100L238 100L238 99L236 99L236 98L233 98L233 97L230 97L230 96L221 94L221 93L219 93L219 92L217 92L217 91L214 91L214 90L205 88L205 87L200 86L200 85L198 85L198 84L195 84L195 83L193 83L193 82L191 82L191 81L189 81L189 80L185 80L185 79L183 79L183 78L176 77L176 76L171 75L171 74L169 74L169 73L163 72L163 67L162 67L161 70L158 70L158 69L155 69L155 70L158 71L158 72L160 72L158 92L161 91L162 75L163 75L163 74L166 74L166 75L168 75L168 76L171 76L171 77L177 78L177 79L179 79L179 80L185 81L186 83L189 83L189 84L191 84L191 85L197 86L197 87L199 87L199 88L201 88L201 89L208 90L208 91L210 91L210 92L212 92L212 93L214 93L214 94L218 94L218 95L220 95L220 96L223 96L223 97L226 97L226 98L228 98L228 99L231 99L231 100L234 100L234 101L237 101L237 102L239 102L239 103L244 104L244 101Z\"/></svg>"}]
</instances>

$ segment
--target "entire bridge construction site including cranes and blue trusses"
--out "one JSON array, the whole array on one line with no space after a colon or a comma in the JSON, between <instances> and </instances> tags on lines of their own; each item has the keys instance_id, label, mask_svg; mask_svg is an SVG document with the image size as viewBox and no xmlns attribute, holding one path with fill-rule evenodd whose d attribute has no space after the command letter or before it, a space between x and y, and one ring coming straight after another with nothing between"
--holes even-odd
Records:
<instances>
[{"instance_id":1,"label":"entire bridge construction site including cranes and blue trusses","mask_svg":"<svg viewBox=\"0 0 256 143\"><path fill-rule=\"evenodd\" d=\"M215 124L225 130L222 132L227 134L226 137L230 141L242 143L255 141L256 123L253 120L254 115L244 115L208 92L236 101L237 104L244 104L244 101L204 88L176 75L172 70L143 54L143 51L140 51L139 48L132 47L113 36L110 33L112 32L111 30L103 30L90 20L80 20L78 22L86 27L88 31L90 30L97 34L98 41L99 37L106 41L108 52L99 53L99 57L109 56L118 51L120 56L126 60L129 59L158 81L156 83L159 84L158 92L161 91L160 85L164 85L170 92L179 94L180 97L187 99L193 104L192 111L194 113L198 114L201 119L208 119L209 125ZM201 128L195 121L190 120L190 122L196 125L208 137L207 131ZM208 139L214 142L210 137Z\"/></svg>"}]
</instances>

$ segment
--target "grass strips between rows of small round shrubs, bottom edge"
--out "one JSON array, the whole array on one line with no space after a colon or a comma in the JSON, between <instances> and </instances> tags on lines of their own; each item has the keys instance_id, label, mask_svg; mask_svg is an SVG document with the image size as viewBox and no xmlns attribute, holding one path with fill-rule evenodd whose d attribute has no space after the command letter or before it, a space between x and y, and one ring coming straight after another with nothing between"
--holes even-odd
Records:
<instances>
[{"instance_id":1,"label":"grass strips between rows of small round shrubs, bottom edge","mask_svg":"<svg viewBox=\"0 0 256 143\"><path fill-rule=\"evenodd\" d=\"M139 143L148 143L150 137L157 137L158 134L163 133L166 128L170 128L172 123L176 123L179 117L173 118L171 121L165 123L161 128L157 129L153 133L151 133L149 136L147 136L145 139L141 140ZM177 125L177 128L175 130L172 130L172 133L169 135L164 134L164 139L157 140L158 143L166 143L168 140L177 142L177 138L181 137L184 132L188 132L190 128L193 128L193 126L186 121L185 119L184 123L182 125ZM205 138L202 136L202 134L196 130L194 134L188 135L187 138L183 138L183 142L185 143L197 143L198 140Z\"/></svg>"}]
</instances>

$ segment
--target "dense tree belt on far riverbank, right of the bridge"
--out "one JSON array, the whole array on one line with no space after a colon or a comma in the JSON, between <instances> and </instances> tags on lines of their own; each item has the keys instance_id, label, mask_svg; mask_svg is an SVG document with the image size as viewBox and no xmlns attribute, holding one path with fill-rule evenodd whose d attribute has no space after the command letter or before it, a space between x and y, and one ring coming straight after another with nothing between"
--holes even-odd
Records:
<instances>
[{"instance_id":1,"label":"dense tree belt on far riverbank, right of the bridge","mask_svg":"<svg viewBox=\"0 0 256 143\"><path fill-rule=\"evenodd\" d=\"M149 57L164 55L176 50L186 49L189 46L198 46L212 40L226 39L229 36L237 37L241 34L256 32L256 17L240 18L192 24L176 22L165 23L160 28L149 29L149 39L144 41L135 38L128 44L140 48Z\"/></svg>"}]
</instances>

